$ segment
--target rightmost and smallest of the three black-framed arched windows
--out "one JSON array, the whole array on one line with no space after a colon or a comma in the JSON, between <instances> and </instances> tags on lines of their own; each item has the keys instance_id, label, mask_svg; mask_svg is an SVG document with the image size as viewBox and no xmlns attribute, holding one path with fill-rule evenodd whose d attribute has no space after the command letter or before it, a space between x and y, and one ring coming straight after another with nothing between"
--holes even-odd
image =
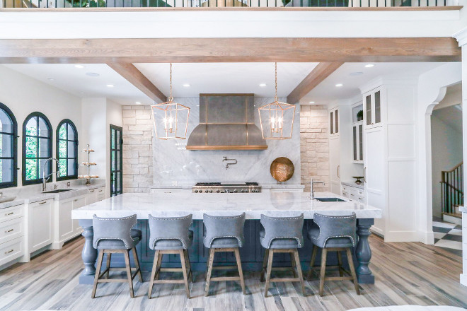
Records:
<instances>
[{"instance_id":1,"label":"rightmost and smallest of the three black-framed arched windows","mask_svg":"<svg viewBox=\"0 0 467 311\"><path fill-rule=\"evenodd\" d=\"M78 177L78 131L69 119L64 119L57 127L57 159L60 163L57 180Z\"/></svg>"}]
</instances>

